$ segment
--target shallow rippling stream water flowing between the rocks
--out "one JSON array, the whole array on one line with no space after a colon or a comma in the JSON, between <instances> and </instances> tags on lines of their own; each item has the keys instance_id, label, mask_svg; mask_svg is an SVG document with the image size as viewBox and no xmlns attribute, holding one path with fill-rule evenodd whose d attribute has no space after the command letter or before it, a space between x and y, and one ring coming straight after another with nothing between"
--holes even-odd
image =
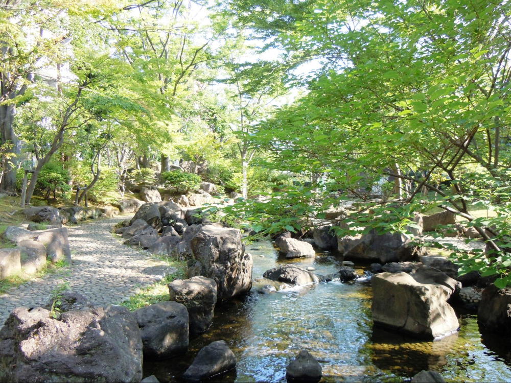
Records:
<instances>
[{"instance_id":1,"label":"shallow rippling stream water flowing between the rocks","mask_svg":"<svg viewBox=\"0 0 511 383\"><path fill-rule=\"evenodd\" d=\"M328 252L279 258L267 241L248 245L247 252L253 255L254 279L279 264L314 267L316 274L333 273L342 264L340 256ZM364 267L356 269L362 275ZM191 341L187 354L145 363L144 376L178 381L201 347L223 339L238 364L221 381L285 381L286 366L303 348L321 363L324 382L402 381L423 369L436 370L447 381L511 381L509 349L494 336L481 339L475 315L460 315L459 333L423 342L373 328L367 280L258 294L261 285L255 282L245 298L217 306L212 327Z\"/></svg>"}]
</instances>

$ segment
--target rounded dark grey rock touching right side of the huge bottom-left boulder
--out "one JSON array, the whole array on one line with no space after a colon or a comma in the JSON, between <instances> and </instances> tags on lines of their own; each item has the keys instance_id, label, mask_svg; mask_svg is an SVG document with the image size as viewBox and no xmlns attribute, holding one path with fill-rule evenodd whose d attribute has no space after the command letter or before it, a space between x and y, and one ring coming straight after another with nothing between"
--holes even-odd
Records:
<instances>
[{"instance_id":1,"label":"rounded dark grey rock touching right side of the huge bottom-left boulder","mask_svg":"<svg viewBox=\"0 0 511 383\"><path fill-rule=\"evenodd\" d=\"M189 317L181 303L154 303L133 314L140 327L145 356L162 359L186 352Z\"/></svg>"}]
</instances>

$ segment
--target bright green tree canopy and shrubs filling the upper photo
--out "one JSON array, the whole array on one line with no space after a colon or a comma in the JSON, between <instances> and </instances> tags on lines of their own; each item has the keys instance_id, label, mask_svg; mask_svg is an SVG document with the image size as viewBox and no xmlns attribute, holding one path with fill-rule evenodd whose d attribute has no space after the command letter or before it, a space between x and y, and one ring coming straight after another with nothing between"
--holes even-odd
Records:
<instances>
[{"instance_id":1,"label":"bright green tree canopy and shrubs filling the upper photo","mask_svg":"<svg viewBox=\"0 0 511 383\"><path fill-rule=\"evenodd\" d=\"M225 212L271 234L351 206L339 235L411 235L443 209L487 244L462 271L511 283L509 2L0 5L0 189L31 158L27 203L206 180L267 195Z\"/></svg>"}]
</instances>

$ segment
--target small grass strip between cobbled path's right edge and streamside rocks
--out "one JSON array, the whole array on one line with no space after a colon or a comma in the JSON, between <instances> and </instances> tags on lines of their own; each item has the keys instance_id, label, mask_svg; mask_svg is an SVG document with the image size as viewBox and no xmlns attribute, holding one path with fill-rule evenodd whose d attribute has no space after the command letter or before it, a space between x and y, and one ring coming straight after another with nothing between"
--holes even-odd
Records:
<instances>
[{"instance_id":1,"label":"small grass strip between cobbled path's right edge and streamside rocks","mask_svg":"<svg viewBox=\"0 0 511 383\"><path fill-rule=\"evenodd\" d=\"M165 278L161 279L160 281L150 286L147 286L146 288L142 289L140 293L131 296L129 300L121 303L122 306L127 307L131 311L141 307L148 306L153 303L168 301L169 288L167 287L167 285L174 279L186 278L187 273L186 262L165 256L157 255L152 256L166 261L169 266L175 267L177 271L172 274L166 275Z\"/></svg>"}]
</instances>

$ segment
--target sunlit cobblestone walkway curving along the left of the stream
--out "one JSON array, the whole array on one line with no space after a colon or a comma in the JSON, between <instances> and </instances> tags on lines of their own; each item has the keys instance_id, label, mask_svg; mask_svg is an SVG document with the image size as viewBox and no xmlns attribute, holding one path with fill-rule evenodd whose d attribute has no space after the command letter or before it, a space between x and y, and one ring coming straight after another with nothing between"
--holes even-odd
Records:
<instances>
[{"instance_id":1,"label":"sunlit cobblestone walkway curving along the left of the stream","mask_svg":"<svg viewBox=\"0 0 511 383\"><path fill-rule=\"evenodd\" d=\"M52 290L65 281L92 303L107 305L120 303L141 287L174 272L176 269L164 261L123 245L111 234L112 225L124 219L102 219L68 227L73 265L0 295L0 327L14 307L47 303Z\"/></svg>"}]
</instances>

